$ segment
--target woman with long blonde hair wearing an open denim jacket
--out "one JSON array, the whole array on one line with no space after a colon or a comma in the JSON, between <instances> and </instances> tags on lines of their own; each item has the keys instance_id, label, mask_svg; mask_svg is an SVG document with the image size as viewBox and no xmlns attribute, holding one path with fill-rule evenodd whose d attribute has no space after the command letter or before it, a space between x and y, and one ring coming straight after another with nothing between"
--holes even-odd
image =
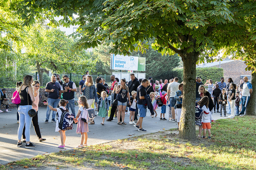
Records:
<instances>
[{"instance_id":1,"label":"woman with long blonde hair wearing an open denim jacket","mask_svg":"<svg viewBox=\"0 0 256 170\"><path fill-rule=\"evenodd\" d=\"M87 76L86 82L84 83L81 92L83 92L83 95L86 97L89 108L92 107L93 101L98 100L96 87L93 84L92 76Z\"/></svg>"}]
</instances>

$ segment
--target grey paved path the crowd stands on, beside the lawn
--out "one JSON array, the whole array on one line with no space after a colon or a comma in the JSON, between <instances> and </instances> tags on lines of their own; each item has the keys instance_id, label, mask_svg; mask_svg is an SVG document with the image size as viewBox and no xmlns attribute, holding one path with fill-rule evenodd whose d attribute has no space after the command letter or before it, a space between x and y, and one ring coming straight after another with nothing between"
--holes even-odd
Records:
<instances>
[{"instance_id":1,"label":"grey paved path the crowd stands on, beside the lawn","mask_svg":"<svg viewBox=\"0 0 256 170\"><path fill-rule=\"evenodd\" d=\"M78 112L78 107L75 107L76 113ZM0 164L7 164L8 162L20 160L24 158L31 158L38 154L47 154L51 152L59 152L57 148L60 144L59 132L55 132L55 123L49 122L44 123L46 116L46 107L39 107L38 110L38 123L41 129L41 134L43 138L46 138L44 142L39 142L36 133L34 131L33 125L31 123L30 129L30 141L33 142L36 147L31 149L25 148L25 143L22 143L21 147L16 147L17 145L17 130L19 124L16 118L16 108L9 109L9 112L0 113ZM88 145L101 144L117 139L124 139L128 137L139 136L142 134L153 133L157 131L162 131L164 129L176 128L178 126L177 122L161 121L160 118L161 109L157 110L158 116L156 118L150 117L150 112L147 112L147 116L143 119L143 128L147 132L139 132L133 126L128 124L129 114L125 115L125 122L127 125L117 125L117 118L112 122L105 121L105 125L101 125L102 118L96 116L95 124L89 125L88 132ZM168 119L168 107L166 109L166 119ZM52 112L50 115L51 120ZM219 113L213 114L214 120L223 119L227 117L219 117ZM66 131L66 149L72 149L80 144L80 134L76 134L76 124L73 124L73 130Z\"/></svg>"}]
</instances>

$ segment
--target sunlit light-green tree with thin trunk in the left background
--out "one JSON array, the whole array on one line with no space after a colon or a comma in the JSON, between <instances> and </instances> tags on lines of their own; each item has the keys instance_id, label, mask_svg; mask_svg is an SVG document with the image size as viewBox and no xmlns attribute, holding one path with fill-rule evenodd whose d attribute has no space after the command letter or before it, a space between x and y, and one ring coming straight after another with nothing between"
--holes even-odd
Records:
<instances>
[{"instance_id":1,"label":"sunlit light-green tree with thin trunk in the left background","mask_svg":"<svg viewBox=\"0 0 256 170\"><path fill-rule=\"evenodd\" d=\"M79 74L85 73L85 70L94 70L97 60L92 60L85 50L72 54L75 42L58 29L47 29L35 24L20 32L20 37L23 41L16 43L16 48L25 48L24 59L35 65L41 84L41 69Z\"/></svg>"}]
</instances>

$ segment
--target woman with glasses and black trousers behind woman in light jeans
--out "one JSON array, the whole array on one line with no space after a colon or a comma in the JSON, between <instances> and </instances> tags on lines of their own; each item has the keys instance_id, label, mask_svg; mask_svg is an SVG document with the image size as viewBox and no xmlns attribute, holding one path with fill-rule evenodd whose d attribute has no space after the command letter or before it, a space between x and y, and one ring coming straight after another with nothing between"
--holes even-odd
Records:
<instances>
[{"instance_id":1,"label":"woman with glasses and black trousers behind woman in light jeans","mask_svg":"<svg viewBox=\"0 0 256 170\"><path fill-rule=\"evenodd\" d=\"M35 97L35 104L37 107L32 107L33 109L35 109L37 111L37 114L32 117L32 123L33 123L33 126L34 126L34 129L35 129L35 132L37 134L37 137L39 139L39 142L42 142L42 141L45 141L46 139L42 138L41 136L41 132L40 132L40 128L39 128L39 125L38 125L38 103L39 103L39 88L40 88L40 82L35 80L32 84L33 88L34 88L34 97ZM26 130L26 124L24 125L24 128L23 128L23 133L22 133L22 136L23 136L23 142L26 141L26 135L25 135L25 130Z\"/></svg>"}]
</instances>

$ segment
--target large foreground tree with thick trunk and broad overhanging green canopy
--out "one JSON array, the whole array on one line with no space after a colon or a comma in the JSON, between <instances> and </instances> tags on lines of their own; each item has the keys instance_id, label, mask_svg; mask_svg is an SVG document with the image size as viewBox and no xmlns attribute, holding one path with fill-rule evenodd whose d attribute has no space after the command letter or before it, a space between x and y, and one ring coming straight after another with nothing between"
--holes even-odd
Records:
<instances>
[{"instance_id":1,"label":"large foreground tree with thick trunk and broad overhanging green canopy","mask_svg":"<svg viewBox=\"0 0 256 170\"><path fill-rule=\"evenodd\" d=\"M196 136L196 62L204 59L211 61L221 48L232 46L231 42L236 42L245 34L248 23L241 15L240 8L248 11L251 9L250 6L243 6L244 2L245 0L23 0L18 11L25 15L23 18L26 18L26 24L30 22L28 16L46 10L53 11L52 16L63 16L60 21L62 25L80 25L78 34L75 35L82 37L76 44L78 50L94 48L98 44L113 44L111 53L130 55L133 50L144 52L148 45L143 41L155 38L152 47L162 55L178 53L184 68L184 98L179 136L193 139ZM73 18L74 13L78 14L78 18Z\"/></svg>"}]
</instances>

